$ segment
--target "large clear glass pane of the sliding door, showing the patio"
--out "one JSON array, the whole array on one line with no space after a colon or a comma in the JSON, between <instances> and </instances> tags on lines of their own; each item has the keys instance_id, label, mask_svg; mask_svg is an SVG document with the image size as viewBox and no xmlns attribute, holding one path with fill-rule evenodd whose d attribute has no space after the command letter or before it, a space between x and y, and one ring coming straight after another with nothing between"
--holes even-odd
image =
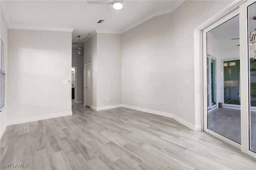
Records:
<instances>
[{"instance_id":1,"label":"large clear glass pane of the sliding door, showing the patio","mask_svg":"<svg viewBox=\"0 0 256 170\"><path fill-rule=\"evenodd\" d=\"M224 106L240 106L239 15L206 32L206 53L207 131L241 144L240 109Z\"/></svg>"}]
</instances>

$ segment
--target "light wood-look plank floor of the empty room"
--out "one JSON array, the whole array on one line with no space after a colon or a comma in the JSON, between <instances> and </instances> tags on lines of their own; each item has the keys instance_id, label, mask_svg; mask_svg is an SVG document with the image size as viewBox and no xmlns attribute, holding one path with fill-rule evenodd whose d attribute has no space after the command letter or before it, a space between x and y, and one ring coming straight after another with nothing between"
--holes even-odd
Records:
<instances>
[{"instance_id":1,"label":"light wood-look plank floor of the empty room","mask_svg":"<svg viewBox=\"0 0 256 170\"><path fill-rule=\"evenodd\" d=\"M122 107L93 111L72 106L72 116L8 126L1 139L1 165L28 163L27 170L256 169L254 158L174 119Z\"/></svg>"}]
</instances>

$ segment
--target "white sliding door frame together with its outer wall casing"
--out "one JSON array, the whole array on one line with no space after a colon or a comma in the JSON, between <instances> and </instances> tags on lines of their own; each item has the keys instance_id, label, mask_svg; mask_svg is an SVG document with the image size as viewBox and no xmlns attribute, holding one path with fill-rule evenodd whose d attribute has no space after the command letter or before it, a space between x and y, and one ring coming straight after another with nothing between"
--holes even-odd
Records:
<instances>
[{"instance_id":1,"label":"white sliding door frame together with its outer wall casing","mask_svg":"<svg viewBox=\"0 0 256 170\"><path fill-rule=\"evenodd\" d=\"M249 82L248 82L248 21L247 21L247 7L250 4L253 4L255 1L243 0L243 1L234 1L229 6L224 8L222 11L218 12L214 17L205 21L201 25L199 25L196 29L194 29L194 37L195 37L195 60L200 61L200 68L195 69L196 72L200 73L200 114L201 114L201 123L202 123L202 131L209 133L217 137L218 139L224 141L225 143L241 150L242 152L256 158L256 153L249 150ZM204 63L206 62L204 57L206 56L206 45L203 42L206 42L206 37L204 34L204 30L210 27L212 24L220 22L221 20L226 21L226 18L232 18L233 12L237 12L239 14L239 29L240 29L240 98L241 100L241 145L231 141L230 139L218 135L217 133L211 133L209 129L207 129L207 119L205 119L205 113L207 114L207 93L206 93L206 68ZM235 16L235 15L234 15ZM233 16L233 17L234 17ZM223 19L225 18L225 19ZM223 21L223 22L224 22ZM222 23L223 23L222 22ZM220 25L220 24L218 24ZM211 29L208 29L209 31ZM196 56L200 56L199 59ZM198 64L195 64L195 66ZM205 97L206 96L206 97ZM196 96L197 97L197 96ZM205 100L206 99L206 100ZM198 115L196 115L196 122ZM205 128L206 127L206 128Z\"/></svg>"}]
</instances>

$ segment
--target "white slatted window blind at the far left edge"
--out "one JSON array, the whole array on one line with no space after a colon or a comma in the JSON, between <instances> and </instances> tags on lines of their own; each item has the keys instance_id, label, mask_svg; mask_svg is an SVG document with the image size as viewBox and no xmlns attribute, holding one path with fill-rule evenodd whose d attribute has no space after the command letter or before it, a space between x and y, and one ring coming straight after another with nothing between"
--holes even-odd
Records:
<instances>
[{"instance_id":1,"label":"white slatted window blind at the far left edge","mask_svg":"<svg viewBox=\"0 0 256 170\"><path fill-rule=\"evenodd\" d=\"M4 107L5 97L5 43L1 37L1 56L0 56L0 109Z\"/></svg>"}]
</instances>

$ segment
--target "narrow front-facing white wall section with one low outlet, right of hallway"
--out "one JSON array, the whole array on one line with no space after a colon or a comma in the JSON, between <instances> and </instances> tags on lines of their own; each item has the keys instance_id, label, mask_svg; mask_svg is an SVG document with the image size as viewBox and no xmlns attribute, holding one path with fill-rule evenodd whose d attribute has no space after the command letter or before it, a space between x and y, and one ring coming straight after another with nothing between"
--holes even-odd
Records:
<instances>
[{"instance_id":1,"label":"narrow front-facing white wall section with one low outlet, right of hallway","mask_svg":"<svg viewBox=\"0 0 256 170\"><path fill-rule=\"evenodd\" d=\"M97 107L121 104L120 34L97 34L97 63Z\"/></svg>"}]
</instances>

